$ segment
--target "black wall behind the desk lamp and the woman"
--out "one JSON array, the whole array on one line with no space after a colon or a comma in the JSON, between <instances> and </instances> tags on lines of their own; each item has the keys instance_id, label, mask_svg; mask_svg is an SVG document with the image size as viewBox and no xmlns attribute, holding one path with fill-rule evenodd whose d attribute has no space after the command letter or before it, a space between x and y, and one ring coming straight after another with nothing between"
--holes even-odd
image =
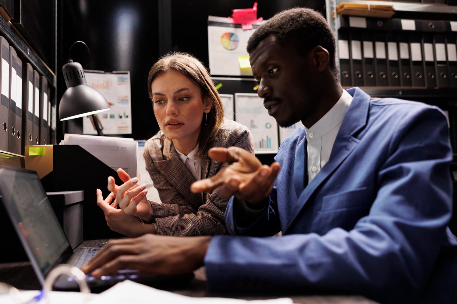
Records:
<instances>
[{"instance_id":1,"label":"black wall behind the desk lamp and the woman","mask_svg":"<svg viewBox=\"0 0 457 304\"><path fill-rule=\"evenodd\" d=\"M324 0L258 0L258 16L270 18L294 6L323 11ZM148 139L159 127L147 94L149 68L165 52L190 52L208 66L208 15L229 16L232 9L252 7L246 0L62 0L58 1L58 92L65 90L61 68L74 41L87 43L92 54L87 69L131 72L134 139ZM74 48L74 61L87 62L84 49ZM63 134L82 133L82 119L58 122Z\"/></svg>"}]
</instances>

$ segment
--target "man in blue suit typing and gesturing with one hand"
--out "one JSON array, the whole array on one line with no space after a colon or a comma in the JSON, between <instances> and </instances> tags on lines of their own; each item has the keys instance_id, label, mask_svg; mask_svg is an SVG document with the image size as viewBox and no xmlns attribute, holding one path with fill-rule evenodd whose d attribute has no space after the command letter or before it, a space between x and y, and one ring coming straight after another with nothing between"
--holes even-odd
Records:
<instances>
[{"instance_id":1,"label":"man in blue suit typing and gesturing with one hand","mask_svg":"<svg viewBox=\"0 0 457 304\"><path fill-rule=\"evenodd\" d=\"M221 187L232 236L147 235L108 243L85 272L183 273L211 289L362 294L383 303L451 303L457 284L448 127L436 107L343 90L335 39L314 10L272 17L248 42L252 71L279 125L302 121L276 162L213 149L228 166L192 191ZM274 181L274 183L273 183ZM282 231L282 237L271 238Z\"/></svg>"}]
</instances>

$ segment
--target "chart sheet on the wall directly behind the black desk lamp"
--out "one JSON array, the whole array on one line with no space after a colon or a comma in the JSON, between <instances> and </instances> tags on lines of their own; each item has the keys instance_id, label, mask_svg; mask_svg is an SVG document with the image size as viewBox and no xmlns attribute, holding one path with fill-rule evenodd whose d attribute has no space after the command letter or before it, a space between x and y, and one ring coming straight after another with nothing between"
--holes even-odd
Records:
<instances>
[{"instance_id":1,"label":"chart sheet on the wall directly behind the black desk lamp","mask_svg":"<svg viewBox=\"0 0 457 304\"><path fill-rule=\"evenodd\" d=\"M87 84L100 92L110 104L111 110L98 114L103 125L103 134L132 133L132 98L130 72L85 71ZM83 133L97 134L90 119L83 118Z\"/></svg>"}]
</instances>

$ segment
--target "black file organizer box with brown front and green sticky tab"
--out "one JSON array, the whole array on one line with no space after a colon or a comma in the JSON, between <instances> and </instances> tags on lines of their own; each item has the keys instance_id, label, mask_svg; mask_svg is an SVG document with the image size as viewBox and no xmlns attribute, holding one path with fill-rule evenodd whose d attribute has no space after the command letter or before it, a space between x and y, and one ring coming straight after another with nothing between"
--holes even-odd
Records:
<instances>
[{"instance_id":1,"label":"black file organizer box with brown front and green sticky tab","mask_svg":"<svg viewBox=\"0 0 457 304\"><path fill-rule=\"evenodd\" d=\"M44 155L29 155L29 148L44 148ZM91 155L79 145L34 145L26 147L26 168L36 170L47 192L84 191L83 237L84 240L122 237L113 232L105 215L97 205L96 189L103 198L110 194L108 176L116 185L122 185L117 172Z\"/></svg>"}]
</instances>

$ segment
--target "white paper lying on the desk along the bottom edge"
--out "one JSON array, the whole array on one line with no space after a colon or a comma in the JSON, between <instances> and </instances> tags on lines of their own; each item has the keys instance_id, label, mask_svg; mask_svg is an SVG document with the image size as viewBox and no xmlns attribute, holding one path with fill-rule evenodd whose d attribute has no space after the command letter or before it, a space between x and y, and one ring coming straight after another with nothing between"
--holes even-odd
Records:
<instances>
[{"instance_id":1,"label":"white paper lying on the desk along the bottom edge","mask_svg":"<svg viewBox=\"0 0 457 304\"><path fill-rule=\"evenodd\" d=\"M292 299L281 298L271 300L240 300L227 298L194 298L169 291L155 289L129 280L117 283L102 292L96 301L98 304L292 304ZM90 302L92 304L92 302Z\"/></svg>"}]
</instances>

